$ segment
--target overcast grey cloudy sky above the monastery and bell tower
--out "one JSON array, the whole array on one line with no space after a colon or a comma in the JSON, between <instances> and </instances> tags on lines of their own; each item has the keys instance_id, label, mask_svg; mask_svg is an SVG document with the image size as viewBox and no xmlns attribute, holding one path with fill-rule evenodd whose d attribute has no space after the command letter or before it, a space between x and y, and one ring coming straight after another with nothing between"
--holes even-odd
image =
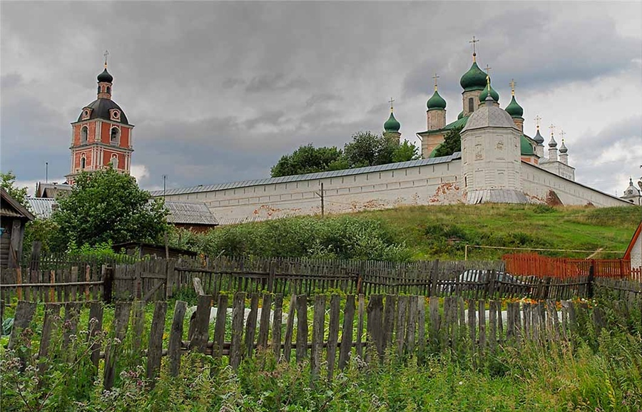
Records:
<instances>
[{"instance_id":1,"label":"overcast grey cloudy sky above the monastery and bell tower","mask_svg":"<svg viewBox=\"0 0 642 412\"><path fill-rule=\"evenodd\" d=\"M382 131L391 97L419 145L434 73L447 120L462 110L472 36L524 131L566 132L576 180L621 195L642 175L640 2L2 1L0 23L0 168L32 190L46 162L68 173L106 49L132 172L157 189L268 177L299 145Z\"/></svg>"}]
</instances>

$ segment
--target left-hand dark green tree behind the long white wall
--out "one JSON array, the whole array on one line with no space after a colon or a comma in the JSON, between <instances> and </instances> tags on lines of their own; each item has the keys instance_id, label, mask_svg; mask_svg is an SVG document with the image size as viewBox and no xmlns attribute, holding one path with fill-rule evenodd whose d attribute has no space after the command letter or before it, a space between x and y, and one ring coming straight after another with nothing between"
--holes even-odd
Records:
<instances>
[{"instance_id":1,"label":"left-hand dark green tree behind the long white wall","mask_svg":"<svg viewBox=\"0 0 642 412\"><path fill-rule=\"evenodd\" d=\"M315 148L311 144L300 146L291 155L284 155L272 167L272 177L302 175L347 168L343 153L335 146Z\"/></svg>"}]
</instances>

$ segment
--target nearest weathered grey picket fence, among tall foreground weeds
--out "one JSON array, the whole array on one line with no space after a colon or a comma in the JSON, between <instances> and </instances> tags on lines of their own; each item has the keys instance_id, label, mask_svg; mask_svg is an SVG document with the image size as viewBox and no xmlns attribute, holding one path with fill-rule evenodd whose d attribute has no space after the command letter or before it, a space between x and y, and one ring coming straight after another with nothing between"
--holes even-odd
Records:
<instances>
[{"instance_id":1,"label":"nearest weathered grey picket fence, among tall foreground weeds","mask_svg":"<svg viewBox=\"0 0 642 412\"><path fill-rule=\"evenodd\" d=\"M628 316L640 311L640 304L637 299L626 299L613 307L618 310L616 316ZM148 329L140 301L116 303L111 328L103 325L101 303L88 306L89 321L84 329L78 321L83 304L46 304L42 327L32 328L42 331L37 358L47 358L52 336L58 330L63 330L63 351L70 344L70 336L88 336L91 345L87 356L96 371L103 371L106 389L114 385L122 368L119 359L125 356L146 364L147 378L153 379L159 374L163 356L167 358L169 374L177 376L181 356L189 351L223 359L237 368L243 358L263 350L282 362L309 361L313 376L332 378L353 356L367 363L389 354L412 355L420 360L442 351L473 351L483 356L501 346L519 347L528 342L547 345L556 341L572 344L589 336L595 339L607 326L601 306L589 307L587 302L569 300L559 304L552 300L502 304L496 300L446 297L440 304L437 298L423 296L373 294L367 299L363 294L348 294L342 299L337 294L317 294L293 295L290 302L284 302L281 294L238 292L233 296L198 297L188 330L184 329L188 311L185 302L175 302L169 327L165 327L167 302L156 302ZM19 302L9 349L19 346L21 331L31 325L35 312L35 303ZM88 333L80 333L80 329ZM91 340L101 336L103 329L110 331L108 339ZM146 348L141 344L143 336L148 336ZM25 362L34 358L19 353ZM98 367L101 362L102 367ZM39 368L46 369L46 365Z\"/></svg>"}]
</instances>

